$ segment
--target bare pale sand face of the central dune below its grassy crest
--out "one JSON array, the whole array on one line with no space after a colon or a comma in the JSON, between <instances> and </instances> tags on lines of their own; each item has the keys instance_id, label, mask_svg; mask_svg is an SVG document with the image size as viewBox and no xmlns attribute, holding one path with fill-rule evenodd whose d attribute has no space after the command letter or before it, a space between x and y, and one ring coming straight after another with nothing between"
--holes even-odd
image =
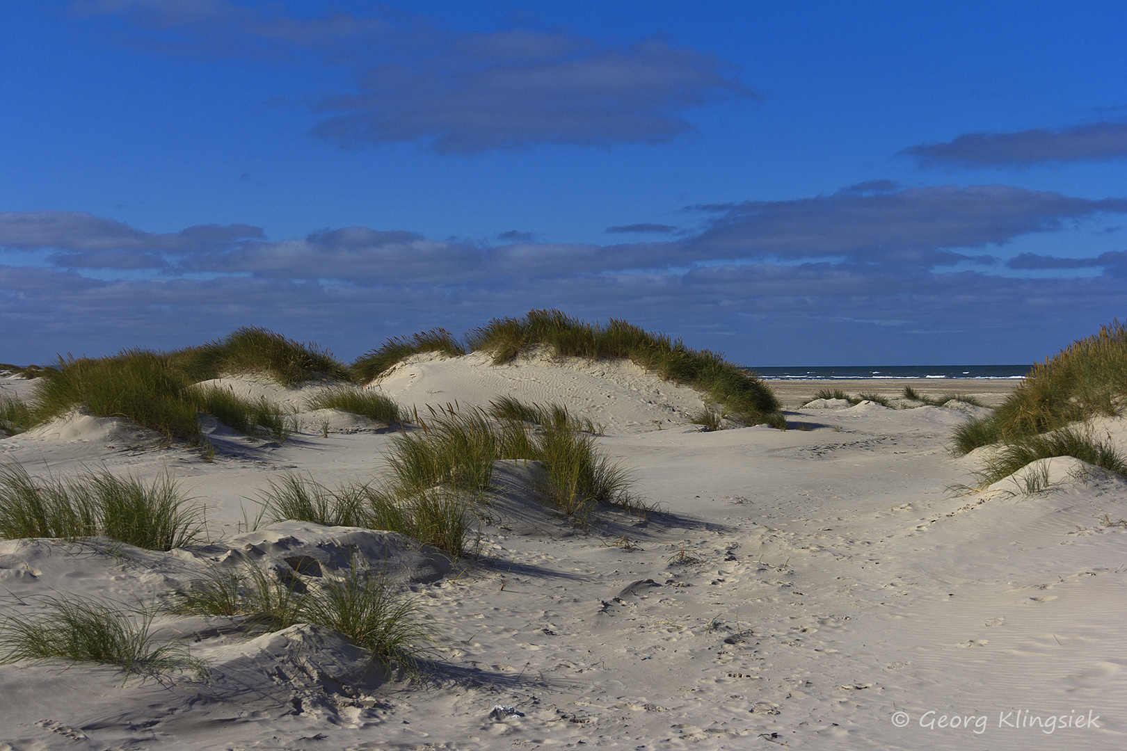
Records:
<instances>
[{"instance_id":1,"label":"bare pale sand face of the central dune below its grassy crest","mask_svg":"<svg viewBox=\"0 0 1127 751\"><path fill-rule=\"evenodd\" d=\"M426 406L488 406L499 396L525 403L562 404L609 433L637 433L689 423L704 406L695 388L663 381L627 359L554 357L540 348L512 363L489 355L409 357L372 386L419 415Z\"/></svg>"}]
</instances>

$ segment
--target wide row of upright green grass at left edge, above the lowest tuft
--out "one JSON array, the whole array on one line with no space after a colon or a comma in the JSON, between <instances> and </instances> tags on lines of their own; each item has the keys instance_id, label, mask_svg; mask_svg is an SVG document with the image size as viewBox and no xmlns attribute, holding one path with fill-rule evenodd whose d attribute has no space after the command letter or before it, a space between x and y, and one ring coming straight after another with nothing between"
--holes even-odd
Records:
<instances>
[{"instance_id":1,"label":"wide row of upright green grass at left edge, above the lowest tuft","mask_svg":"<svg viewBox=\"0 0 1127 751\"><path fill-rule=\"evenodd\" d=\"M36 482L18 464L0 466L0 538L103 535L150 551L199 539L199 509L188 507L168 474L145 485L109 472Z\"/></svg>"}]
</instances>

